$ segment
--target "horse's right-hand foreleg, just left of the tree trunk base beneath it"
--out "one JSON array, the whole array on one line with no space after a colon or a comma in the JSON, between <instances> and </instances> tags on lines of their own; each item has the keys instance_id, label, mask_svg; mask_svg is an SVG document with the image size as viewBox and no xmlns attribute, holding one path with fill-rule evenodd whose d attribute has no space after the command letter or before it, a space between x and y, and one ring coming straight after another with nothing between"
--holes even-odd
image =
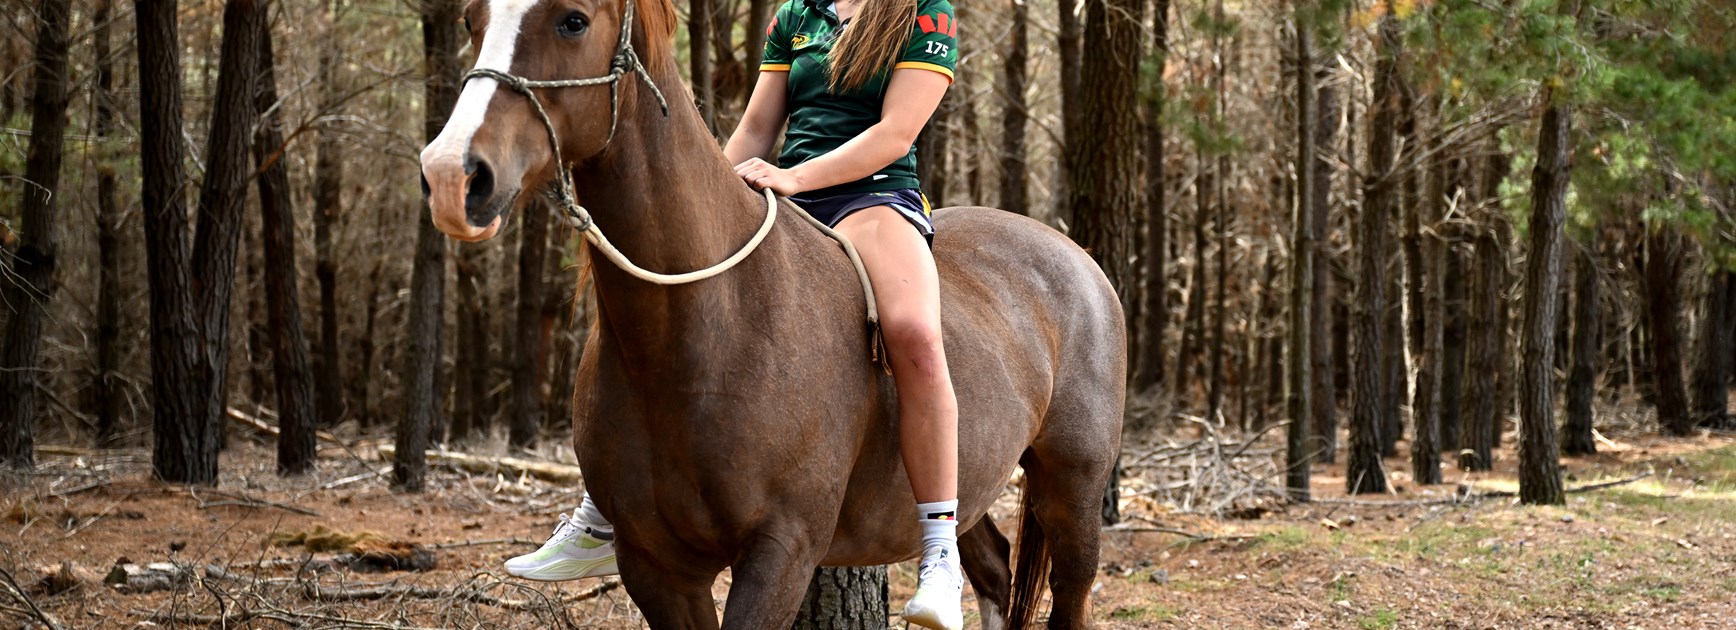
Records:
<instances>
[{"instance_id":1,"label":"horse's right-hand foreleg, just left of the tree trunk base beneath it","mask_svg":"<svg viewBox=\"0 0 1736 630\"><path fill-rule=\"evenodd\" d=\"M806 536L766 536L731 569L724 630L788 628L819 557Z\"/></svg>"}]
</instances>

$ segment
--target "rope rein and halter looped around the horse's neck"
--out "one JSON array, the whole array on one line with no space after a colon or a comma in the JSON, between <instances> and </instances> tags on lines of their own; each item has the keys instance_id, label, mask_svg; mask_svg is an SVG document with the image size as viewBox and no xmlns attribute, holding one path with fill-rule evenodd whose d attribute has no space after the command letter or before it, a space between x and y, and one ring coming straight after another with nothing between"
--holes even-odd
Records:
<instances>
[{"instance_id":1,"label":"rope rein and halter looped around the horse's neck","mask_svg":"<svg viewBox=\"0 0 1736 630\"><path fill-rule=\"evenodd\" d=\"M615 245L609 243L609 238L602 234L602 229L597 227L597 222L592 220L590 212L585 210L585 207L578 205L578 194L573 191L573 172L571 168L568 168L566 158L561 156L561 137L554 130L554 121L549 118L549 109L543 108L542 99L538 99L535 92L542 89L608 85L609 135L606 141L602 141L604 148L608 148L609 142L615 142L615 128L620 123L620 108L621 108L620 87L621 80L625 80L627 75L639 75L644 85L651 89L651 94L656 97L658 108L661 108L663 116L668 116L668 101L663 97L663 90L660 90L656 87L656 82L651 80L651 73L648 73L644 62L639 61L639 52L634 50L632 24L634 24L634 0L627 0L627 9L623 10L621 16L621 38L620 43L616 43L615 57L609 61L608 75L595 78L536 82L536 80L528 80L524 76L510 75L502 69L474 68L467 75L464 75L464 82L469 83L472 78L491 78L500 85L523 94L531 102L531 109L535 109L536 118L542 120L543 130L549 132L549 146L554 149L554 160L557 168L556 168L556 186L550 187L550 196L554 198L556 210L562 215L562 219L566 219L568 224L573 226L573 229L583 233L585 240L590 241L590 245L595 246L604 259L609 259L609 262L613 262L627 274L653 285L668 286L668 285L696 283L717 276L724 271L729 271L743 259L746 259L748 253L753 253L753 250L759 248L760 241L766 240L766 234L771 233L771 226L778 220L776 193L773 193L773 189L769 187L760 191L766 194L766 220L760 224L759 231L753 233L753 238L746 241L746 245L743 245L740 250L736 250L736 253L729 255L722 262L717 262L705 269L694 269L679 274L661 274L644 269L628 260L627 255L621 253L621 250L615 248ZM856 246L851 245L849 238L838 234L838 231L819 222L819 219L814 219L806 210L800 210L797 213L802 215L802 219L807 220L809 226L814 226L814 229L819 229L819 233L838 241L838 245L844 248L844 255L849 257L851 266L856 267L856 278L863 285L863 295L868 297L868 330L871 337L870 354L875 363L880 363L884 368L891 371L891 364L889 361L885 361L885 349L882 345L884 340L880 337L880 309L875 307L873 285L868 281L868 267L863 266L861 255L856 253Z\"/></svg>"}]
</instances>

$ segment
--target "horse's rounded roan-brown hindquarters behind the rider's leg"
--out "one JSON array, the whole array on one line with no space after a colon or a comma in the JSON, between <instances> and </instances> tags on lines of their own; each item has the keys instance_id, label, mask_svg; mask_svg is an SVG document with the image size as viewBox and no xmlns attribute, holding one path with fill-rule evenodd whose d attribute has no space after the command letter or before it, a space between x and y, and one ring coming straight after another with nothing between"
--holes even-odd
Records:
<instances>
[{"instance_id":1,"label":"horse's rounded roan-brown hindquarters behind the rider's leg","mask_svg":"<svg viewBox=\"0 0 1736 630\"><path fill-rule=\"evenodd\" d=\"M972 418L981 410L1023 411L1031 423L1019 450L1047 448L1066 465L1113 460L1127 394L1127 331L1102 269L1068 236L1010 212L943 208L934 224L960 444L974 430L993 430L981 427L991 422ZM1017 392L1016 401L996 399L1009 392ZM995 436L976 439L996 443Z\"/></svg>"}]
</instances>

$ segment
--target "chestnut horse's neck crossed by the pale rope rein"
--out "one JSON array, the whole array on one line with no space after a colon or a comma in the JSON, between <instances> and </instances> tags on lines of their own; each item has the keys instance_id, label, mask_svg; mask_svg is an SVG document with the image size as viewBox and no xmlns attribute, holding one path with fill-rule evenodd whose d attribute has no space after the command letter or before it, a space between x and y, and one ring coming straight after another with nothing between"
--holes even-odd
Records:
<instances>
[{"instance_id":1,"label":"chestnut horse's neck crossed by the pale rope rein","mask_svg":"<svg viewBox=\"0 0 1736 630\"><path fill-rule=\"evenodd\" d=\"M658 109L637 76L623 85L621 120L611 146L575 170L578 200L609 241L641 267L660 272L701 269L734 253L766 217L764 196L750 191L705 128L674 66L656 73L670 102ZM785 222L776 226L788 227ZM733 299L746 286L790 281L776 266L783 240L767 238L743 264L691 285L660 286L594 257L604 335L620 342L639 370L667 371L701 326L731 326L752 304ZM731 295L733 293L733 295ZM713 330L715 331L715 330Z\"/></svg>"}]
</instances>

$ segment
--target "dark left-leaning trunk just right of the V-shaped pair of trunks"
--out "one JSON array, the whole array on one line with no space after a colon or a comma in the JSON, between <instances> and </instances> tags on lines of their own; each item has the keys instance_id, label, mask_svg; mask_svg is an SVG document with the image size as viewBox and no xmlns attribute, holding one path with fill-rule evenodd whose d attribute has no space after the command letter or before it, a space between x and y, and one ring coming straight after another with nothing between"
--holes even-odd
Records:
<instances>
[{"instance_id":1,"label":"dark left-leaning trunk just right of the V-shaped pair of trunks","mask_svg":"<svg viewBox=\"0 0 1736 630\"><path fill-rule=\"evenodd\" d=\"M257 111L269 111L253 137L259 163L260 241L266 250L266 312L271 337L273 382L278 385L278 474L297 476L312 470L316 458L314 371L307 363L307 335L302 333L302 300L295 272L295 208L290 203L290 170L278 128L276 62L271 52L271 28L259 21L259 90Z\"/></svg>"}]
</instances>

